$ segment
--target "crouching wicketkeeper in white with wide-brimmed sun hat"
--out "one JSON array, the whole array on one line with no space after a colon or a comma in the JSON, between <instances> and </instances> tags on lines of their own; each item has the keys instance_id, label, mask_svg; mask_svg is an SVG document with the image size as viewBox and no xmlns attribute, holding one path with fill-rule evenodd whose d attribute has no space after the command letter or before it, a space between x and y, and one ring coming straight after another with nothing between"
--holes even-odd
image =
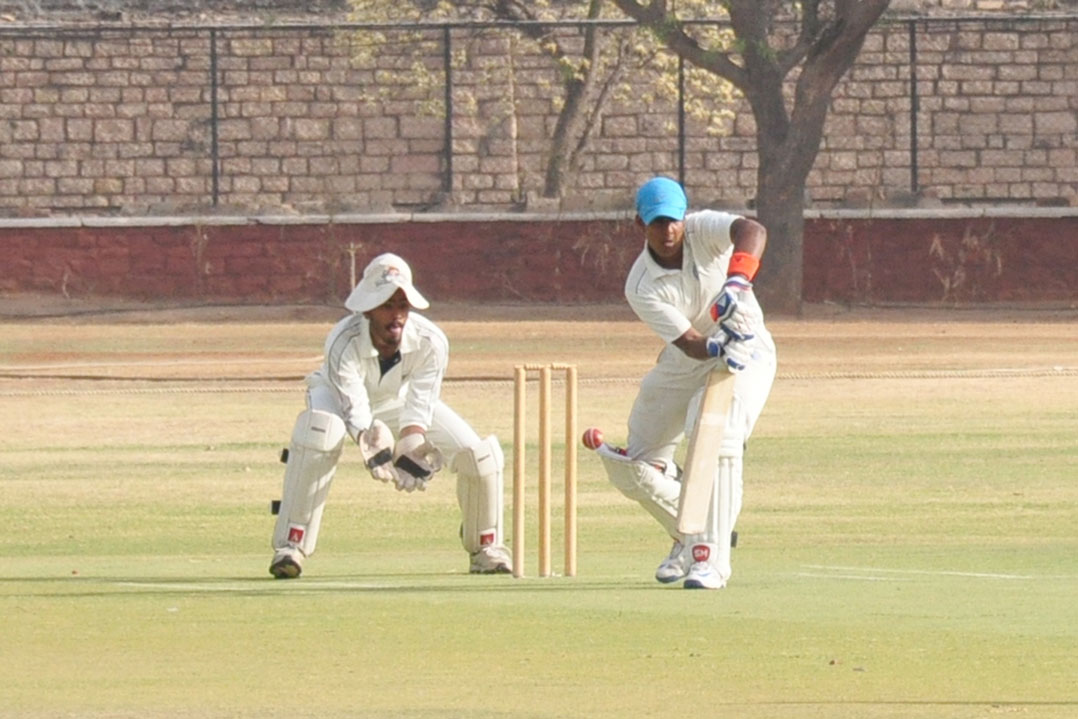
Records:
<instances>
[{"instance_id":1,"label":"crouching wicketkeeper in white with wide-brimmed sun hat","mask_svg":"<svg viewBox=\"0 0 1078 719\"><path fill-rule=\"evenodd\" d=\"M441 400L445 334L426 309L400 257L379 254L345 301L351 314L326 340L321 368L307 375L306 409L289 444L270 573L294 579L315 552L322 511L347 441L371 475L401 492L427 488L447 467L457 475L460 540L472 573L509 573L502 531L505 458ZM396 434L396 437L395 437Z\"/></svg>"}]
</instances>

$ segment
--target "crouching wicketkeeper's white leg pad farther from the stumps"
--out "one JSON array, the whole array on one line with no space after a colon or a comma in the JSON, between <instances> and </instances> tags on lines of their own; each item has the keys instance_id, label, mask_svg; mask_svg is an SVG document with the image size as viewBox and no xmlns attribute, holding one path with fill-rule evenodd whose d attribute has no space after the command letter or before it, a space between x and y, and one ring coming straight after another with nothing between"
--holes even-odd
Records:
<instances>
[{"instance_id":1,"label":"crouching wicketkeeper's white leg pad farther from the stumps","mask_svg":"<svg viewBox=\"0 0 1078 719\"><path fill-rule=\"evenodd\" d=\"M284 496L273 533L275 551L291 548L304 556L314 553L345 437L344 421L335 414L305 410L296 417L288 447Z\"/></svg>"}]
</instances>

